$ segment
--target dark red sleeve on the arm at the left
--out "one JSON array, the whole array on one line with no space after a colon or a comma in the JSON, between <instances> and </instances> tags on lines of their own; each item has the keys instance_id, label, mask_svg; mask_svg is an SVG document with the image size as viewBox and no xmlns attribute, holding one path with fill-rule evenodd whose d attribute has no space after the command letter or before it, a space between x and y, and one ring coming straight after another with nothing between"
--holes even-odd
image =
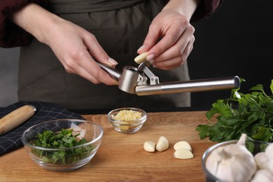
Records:
<instances>
[{"instance_id":1,"label":"dark red sleeve on the arm at the left","mask_svg":"<svg viewBox=\"0 0 273 182\"><path fill-rule=\"evenodd\" d=\"M38 3L48 6L48 0L1 0L0 1L0 47L11 48L27 45L31 41L31 34L8 20L8 16L19 10L27 3Z\"/></svg>"}]
</instances>

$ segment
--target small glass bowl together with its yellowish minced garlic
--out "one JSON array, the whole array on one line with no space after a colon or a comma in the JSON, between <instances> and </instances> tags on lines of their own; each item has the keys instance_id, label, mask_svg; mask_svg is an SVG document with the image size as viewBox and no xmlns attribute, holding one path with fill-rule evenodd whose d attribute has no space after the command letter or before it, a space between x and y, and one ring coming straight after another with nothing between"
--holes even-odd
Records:
<instances>
[{"instance_id":1,"label":"small glass bowl together with its yellowish minced garlic","mask_svg":"<svg viewBox=\"0 0 273 182\"><path fill-rule=\"evenodd\" d=\"M133 134L144 125L147 120L147 113L138 108L119 108L110 111L107 118L116 131Z\"/></svg>"}]
</instances>

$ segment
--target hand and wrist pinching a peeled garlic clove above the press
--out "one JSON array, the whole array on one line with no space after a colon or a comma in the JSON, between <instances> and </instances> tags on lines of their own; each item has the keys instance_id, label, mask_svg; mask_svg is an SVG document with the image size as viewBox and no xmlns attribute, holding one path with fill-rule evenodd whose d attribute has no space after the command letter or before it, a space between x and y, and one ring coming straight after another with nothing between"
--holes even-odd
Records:
<instances>
[{"instance_id":1,"label":"hand and wrist pinching a peeled garlic clove above the press","mask_svg":"<svg viewBox=\"0 0 273 182\"><path fill-rule=\"evenodd\" d=\"M190 25L190 17L197 3L196 0L169 1L151 23L139 54L148 51L147 60L159 69L181 66L193 50L195 29Z\"/></svg>"}]
</instances>

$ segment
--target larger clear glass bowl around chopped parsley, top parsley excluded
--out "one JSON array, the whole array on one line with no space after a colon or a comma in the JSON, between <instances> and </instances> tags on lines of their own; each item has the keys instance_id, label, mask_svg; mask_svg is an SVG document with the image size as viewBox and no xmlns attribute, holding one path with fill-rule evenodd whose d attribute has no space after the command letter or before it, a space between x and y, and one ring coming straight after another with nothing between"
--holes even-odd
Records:
<instances>
[{"instance_id":1,"label":"larger clear glass bowl around chopped parsley, top parsley excluded","mask_svg":"<svg viewBox=\"0 0 273 182\"><path fill-rule=\"evenodd\" d=\"M43 148L31 144L31 141L36 139L35 136L44 130L57 133L62 129L72 129L73 136L79 134L77 139L86 139L87 143L69 148ZM29 127L22 134L21 139L31 159L40 167L66 172L78 169L90 162L99 149L102 136L103 130L100 125L86 120L64 119L50 120Z\"/></svg>"}]
</instances>

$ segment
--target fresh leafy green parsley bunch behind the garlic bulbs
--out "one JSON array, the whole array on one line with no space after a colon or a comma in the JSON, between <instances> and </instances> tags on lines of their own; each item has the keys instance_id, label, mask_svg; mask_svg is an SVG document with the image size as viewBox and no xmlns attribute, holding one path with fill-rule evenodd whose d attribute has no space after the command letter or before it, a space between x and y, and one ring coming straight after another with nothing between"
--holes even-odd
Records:
<instances>
[{"instance_id":1,"label":"fresh leafy green parsley bunch behind the garlic bulbs","mask_svg":"<svg viewBox=\"0 0 273 182\"><path fill-rule=\"evenodd\" d=\"M212 104L206 113L209 123L196 128L200 139L209 137L211 141L229 141L239 139L244 133L251 139L273 142L273 80L271 95L265 93L262 85L251 90L253 92L243 94L234 89L230 98L218 99ZM211 120L213 116L216 116L216 123Z\"/></svg>"}]
</instances>

